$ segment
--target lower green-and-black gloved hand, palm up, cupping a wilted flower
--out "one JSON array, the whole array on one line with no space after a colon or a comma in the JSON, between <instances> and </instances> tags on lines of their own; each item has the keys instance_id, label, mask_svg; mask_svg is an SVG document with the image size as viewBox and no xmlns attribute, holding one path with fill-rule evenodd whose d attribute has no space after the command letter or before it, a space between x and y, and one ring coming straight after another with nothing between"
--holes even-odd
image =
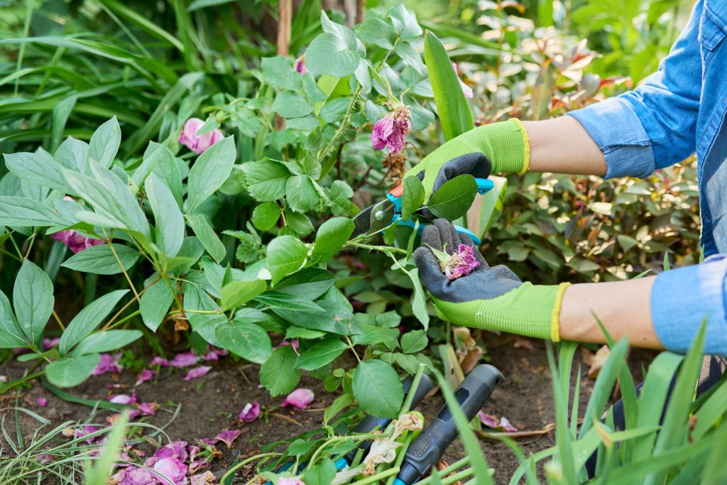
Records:
<instances>
[{"instance_id":1,"label":"lower green-and-black gloved hand, palm up, cupping a wilted flower","mask_svg":"<svg viewBox=\"0 0 727 485\"><path fill-rule=\"evenodd\" d=\"M430 247L454 254L460 244L473 248L479 266L467 276L450 281ZM558 342L558 315L563 292L570 284L523 283L505 265L490 267L473 246L472 239L466 234L457 234L447 220L435 220L424 229L422 244L414 252L414 262L422 284L432 294L438 316L453 324Z\"/></svg>"}]
</instances>

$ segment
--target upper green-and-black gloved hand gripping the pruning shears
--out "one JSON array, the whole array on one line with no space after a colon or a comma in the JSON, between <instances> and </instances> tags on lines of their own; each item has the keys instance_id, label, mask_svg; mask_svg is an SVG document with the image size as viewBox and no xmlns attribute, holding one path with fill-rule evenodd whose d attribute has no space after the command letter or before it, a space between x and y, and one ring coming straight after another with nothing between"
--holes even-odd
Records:
<instances>
[{"instance_id":1,"label":"upper green-and-black gloved hand gripping the pruning shears","mask_svg":"<svg viewBox=\"0 0 727 485\"><path fill-rule=\"evenodd\" d=\"M484 178L490 169L495 173L524 173L529 165L529 151L528 135L520 120L499 121L449 140L425 156L405 177L419 175L429 197L457 175L469 173Z\"/></svg>"}]
</instances>

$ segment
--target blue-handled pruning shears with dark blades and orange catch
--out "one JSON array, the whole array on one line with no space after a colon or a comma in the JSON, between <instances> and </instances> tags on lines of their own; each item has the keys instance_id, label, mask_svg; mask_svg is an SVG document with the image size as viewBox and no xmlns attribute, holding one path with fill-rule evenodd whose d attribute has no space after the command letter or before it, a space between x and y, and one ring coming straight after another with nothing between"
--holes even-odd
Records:
<instances>
[{"instance_id":1,"label":"blue-handled pruning shears with dark blades and orange catch","mask_svg":"<svg viewBox=\"0 0 727 485\"><path fill-rule=\"evenodd\" d=\"M486 178L475 178L475 183L477 183L478 193L482 195L494 188L492 180ZM359 212L358 215L353 218L353 222L355 223L353 235L360 236L361 234L375 233L394 223L414 228L414 220L410 219L405 221L401 218L402 199L403 185L399 185L386 194L386 199L366 207L366 209ZM469 229L465 229L457 225L455 225L454 228L457 229L457 233L465 233L467 236L472 238L472 241L475 244L480 244L480 238L475 236L475 233ZM420 224L417 231L421 233L423 229L423 225Z\"/></svg>"}]
</instances>

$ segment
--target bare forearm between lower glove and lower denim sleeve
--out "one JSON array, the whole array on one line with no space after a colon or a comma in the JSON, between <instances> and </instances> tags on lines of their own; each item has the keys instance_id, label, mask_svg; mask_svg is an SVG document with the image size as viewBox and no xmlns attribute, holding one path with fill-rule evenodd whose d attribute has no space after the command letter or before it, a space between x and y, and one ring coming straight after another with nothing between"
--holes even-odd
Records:
<instances>
[{"instance_id":1,"label":"bare forearm between lower glove and lower denim sleeve","mask_svg":"<svg viewBox=\"0 0 727 485\"><path fill-rule=\"evenodd\" d=\"M614 340L627 337L634 347L664 348L651 320L655 277L607 283L575 284L563 294L561 339L605 343L598 320Z\"/></svg>"}]
</instances>

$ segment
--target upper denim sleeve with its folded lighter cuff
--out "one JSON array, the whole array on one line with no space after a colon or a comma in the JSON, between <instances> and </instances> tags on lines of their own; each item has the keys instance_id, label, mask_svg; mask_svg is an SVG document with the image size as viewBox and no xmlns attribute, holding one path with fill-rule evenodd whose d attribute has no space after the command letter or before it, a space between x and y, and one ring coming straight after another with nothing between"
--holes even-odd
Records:
<instances>
[{"instance_id":1,"label":"upper denim sleeve with its folded lighter cuff","mask_svg":"<svg viewBox=\"0 0 727 485\"><path fill-rule=\"evenodd\" d=\"M569 113L603 151L607 178L646 177L694 153L702 90L698 35L703 3L696 2L659 71L640 87Z\"/></svg>"}]
</instances>

